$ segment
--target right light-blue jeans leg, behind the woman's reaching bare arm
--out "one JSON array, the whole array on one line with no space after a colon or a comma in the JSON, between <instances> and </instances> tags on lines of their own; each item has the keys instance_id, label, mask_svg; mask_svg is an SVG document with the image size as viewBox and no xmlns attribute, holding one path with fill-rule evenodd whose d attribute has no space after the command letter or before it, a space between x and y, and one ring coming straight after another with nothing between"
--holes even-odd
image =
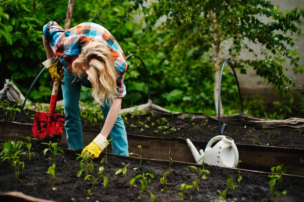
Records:
<instances>
[{"instance_id":1,"label":"right light-blue jeans leg, behind the woman's reaching bare arm","mask_svg":"<svg viewBox=\"0 0 304 202\"><path fill-rule=\"evenodd\" d=\"M110 105L105 104L104 107L100 107L104 119L106 119L106 116L110 110ZM113 154L123 156L127 156L129 154L126 127L120 114L118 115L118 118L110 132L110 138L112 139L111 145Z\"/></svg>"}]
</instances>

